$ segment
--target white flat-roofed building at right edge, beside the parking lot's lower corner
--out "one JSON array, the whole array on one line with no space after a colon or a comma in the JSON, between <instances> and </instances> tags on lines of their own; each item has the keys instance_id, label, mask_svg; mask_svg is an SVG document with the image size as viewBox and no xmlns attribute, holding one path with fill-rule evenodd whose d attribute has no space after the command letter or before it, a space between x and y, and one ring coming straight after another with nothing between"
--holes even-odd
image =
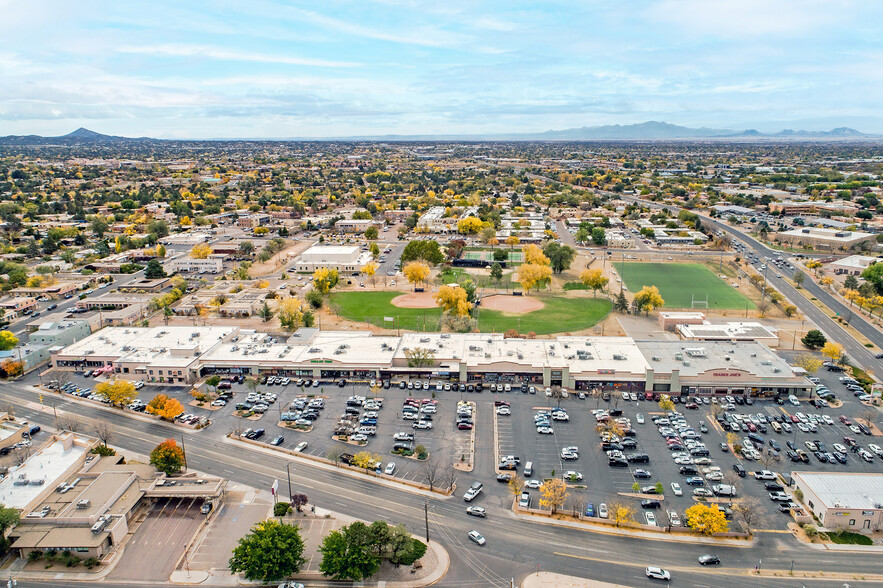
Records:
<instances>
[{"instance_id":1,"label":"white flat-roofed building at right edge, beside the parking lot's lower corner","mask_svg":"<svg viewBox=\"0 0 883 588\"><path fill-rule=\"evenodd\" d=\"M883 529L883 474L792 472L809 507L827 529Z\"/></svg>"}]
</instances>

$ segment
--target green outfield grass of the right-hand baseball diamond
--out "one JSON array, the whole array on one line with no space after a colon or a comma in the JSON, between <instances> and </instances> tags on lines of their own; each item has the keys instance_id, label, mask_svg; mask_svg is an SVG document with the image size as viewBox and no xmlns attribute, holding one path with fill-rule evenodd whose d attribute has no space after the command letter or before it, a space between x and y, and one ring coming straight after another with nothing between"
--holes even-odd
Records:
<instances>
[{"instance_id":1,"label":"green outfield grass of the right-hand baseball diamond","mask_svg":"<svg viewBox=\"0 0 883 588\"><path fill-rule=\"evenodd\" d=\"M537 335L570 333L598 324L613 308L606 298L538 298L545 307L525 314L479 308L478 329L483 333L504 333L509 329Z\"/></svg>"}]
</instances>

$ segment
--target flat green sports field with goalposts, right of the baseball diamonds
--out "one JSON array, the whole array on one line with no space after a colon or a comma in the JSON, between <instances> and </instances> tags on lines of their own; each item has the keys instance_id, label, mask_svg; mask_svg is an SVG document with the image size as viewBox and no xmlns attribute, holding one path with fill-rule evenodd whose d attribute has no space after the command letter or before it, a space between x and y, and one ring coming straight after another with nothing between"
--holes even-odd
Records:
<instances>
[{"instance_id":1,"label":"flat green sports field with goalposts, right of the baseball diamonds","mask_svg":"<svg viewBox=\"0 0 883 588\"><path fill-rule=\"evenodd\" d=\"M631 292L656 286L666 308L690 308L692 299L705 300L708 308L754 308L754 303L717 274L699 263L617 263L616 271ZM611 284L611 289L616 286ZM701 305L696 306L701 309Z\"/></svg>"}]
</instances>

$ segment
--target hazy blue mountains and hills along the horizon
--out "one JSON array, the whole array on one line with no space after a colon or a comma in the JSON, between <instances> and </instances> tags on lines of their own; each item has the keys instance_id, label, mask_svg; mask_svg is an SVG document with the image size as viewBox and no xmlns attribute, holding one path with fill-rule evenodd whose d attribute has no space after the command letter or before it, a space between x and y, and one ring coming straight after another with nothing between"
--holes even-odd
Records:
<instances>
[{"instance_id":1,"label":"hazy blue mountains and hills along the horizon","mask_svg":"<svg viewBox=\"0 0 883 588\"><path fill-rule=\"evenodd\" d=\"M877 139L881 135L869 135L849 127L838 127L830 131L794 131L785 129L778 133L761 133L754 129L735 131L731 129L691 128L665 122L648 121L633 125L603 125L580 127L541 133L499 133L481 135L369 135L327 138L296 138L290 140L309 141L660 141L660 140L848 140ZM228 139L233 141L235 139ZM243 139L246 140L246 139ZM255 139L247 139L255 140ZM278 141L280 139L267 139ZM114 145L147 142L174 142L149 137L118 137L102 135L89 129L79 128L61 137L41 137L39 135L7 135L0 137L0 146L29 145Z\"/></svg>"}]
</instances>

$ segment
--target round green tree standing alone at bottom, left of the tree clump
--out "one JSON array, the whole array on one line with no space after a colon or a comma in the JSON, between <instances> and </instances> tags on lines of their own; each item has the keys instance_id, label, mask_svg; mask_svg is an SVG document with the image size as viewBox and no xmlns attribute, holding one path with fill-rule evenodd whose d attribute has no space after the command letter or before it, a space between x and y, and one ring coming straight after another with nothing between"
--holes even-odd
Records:
<instances>
[{"instance_id":1,"label":"round green tree standing alone at bottom, left of the tree clump","mask_svg":"<svg viewBox=\"0 0 883 588\"><path fill-rule=\"evenodd\" d=\"M239 540L230 558L230 571L243 572L252 582L275 582L300 571L306 563L303 552L297 527L268 519Z\"/></svg>"}]
</instances>

